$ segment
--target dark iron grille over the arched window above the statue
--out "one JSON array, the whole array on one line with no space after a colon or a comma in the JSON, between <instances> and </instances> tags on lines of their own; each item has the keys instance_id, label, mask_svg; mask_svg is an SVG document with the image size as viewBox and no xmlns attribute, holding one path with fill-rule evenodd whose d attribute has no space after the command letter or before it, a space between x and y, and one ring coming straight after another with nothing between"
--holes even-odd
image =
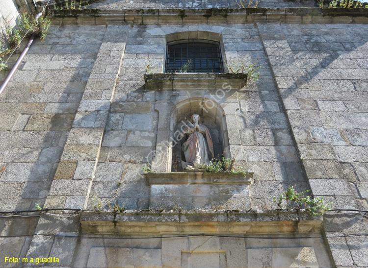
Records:
<instances>
[{"instance_id":1,"label":"dark iron grille over the arched window above the statue","mask_svg":"<svg viewBox=\"0 0 368 268\"><path fill-rule=\"evenodd\" d=\"M220 43L185 39L167 44L166 73L224 73Z\"/></svg>"}]
</instances>

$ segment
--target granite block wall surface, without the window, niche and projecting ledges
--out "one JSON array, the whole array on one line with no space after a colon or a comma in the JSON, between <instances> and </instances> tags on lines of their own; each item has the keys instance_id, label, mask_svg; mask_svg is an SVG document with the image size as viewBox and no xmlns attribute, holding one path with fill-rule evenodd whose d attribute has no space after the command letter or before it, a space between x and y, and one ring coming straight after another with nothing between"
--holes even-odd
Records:
<instances>
[{"instance_id":1,"label":"granite block wall surface, without the window, niche and projecting ledges","mask_svg":"<svg viewBox=\"0 0 368 268\"><path fill-rule=\"evenodd\" d=\"M89 8L113 8L111 4ZM185 7L204 3L195 4ZM45 42L32 45L0 96L1 210L33 209L36 203L50 209L149 209L150 185L141 167L157 160L155 151L168 139L162 129L171 110L191 97L218 102L231 155L254 170L245 190L224 190L235 196L226 206L214 198L192 208L275 212L271 196L294 186L325 196L334 209L367 210L367 29L366 24L280 22L53 26ZM227 62L257 62L260 79L221 98L213 90L150 89L143 76L148 62L154 72L162 72L165 35L185 31L221 34ZM367 218L359 213L325 215L315 235L328 238L315 242L319 248L305 240L287 245L293 248L287 264L278 257L285 255L282 241L261 243L262 250L255 250L256 244L241 239L238 254L246 256L241 265L241 258L229 257L234 240L226 246L216 240L206 256L195 255L189 246L172 257L165 253L170 246L163 239L149 244L77 240L73 236L83 231L79 216L61 216L73 217L0 218L1 236L72 236L0 238L5 248L0 266L26 266L4 264L10 255L58 255L56 267L190 267L190 258L194 264L202 258L218 260L213 267L261 267L260 252L267 267L295 260L303 267L367 267L368 261L365 237L344 237L367 234ZM114 224L116 213L111 216ZM185 241L176 243L199 243ZM125 254L127 263L114 262L116 254Z\"/></svg>"}]
</instances>

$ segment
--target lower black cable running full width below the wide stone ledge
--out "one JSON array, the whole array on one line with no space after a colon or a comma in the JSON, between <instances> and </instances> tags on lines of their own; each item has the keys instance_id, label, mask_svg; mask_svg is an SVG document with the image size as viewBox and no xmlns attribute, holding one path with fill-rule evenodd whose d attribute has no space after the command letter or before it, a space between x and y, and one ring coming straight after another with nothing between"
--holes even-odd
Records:
<instances>
[{"instance_id":1,"label":"lower black cable running full width below the wide stone ledge","mask_svg":"<svg viewBox=\"0 0 368 268\"><path fill-rule=\"evenodd\" d=\"M45 237L60 237L60 238L85 238L85 239L158 239L158 238L182 238L182 237L223 237L223 238L247 238L247 239L320 239L320 238L343 238L343 237L358 237L368 236L363 235L342 235L342 236L310 236L310 237L258 237L258 236L231 236L231 235L211 235L211 234L195 234L195 235L177 235L177 236L158 236L158 237L98 237L98 236L62 236L62 235L47 235L47 234L31 234L31 235L16 235L16 236L0 236L0 238L12 237L30 237L30 236L45 236Z\"/></svg>"}]
</instances>

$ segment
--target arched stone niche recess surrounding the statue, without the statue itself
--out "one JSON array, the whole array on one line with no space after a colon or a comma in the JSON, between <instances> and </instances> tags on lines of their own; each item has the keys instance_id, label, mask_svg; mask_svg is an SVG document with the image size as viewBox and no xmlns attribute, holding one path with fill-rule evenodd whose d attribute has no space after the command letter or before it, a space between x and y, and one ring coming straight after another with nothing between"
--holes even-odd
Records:
<instances>
[{"instance_id":1,"label":"arched stone niche recess surrounding the statue, without the statue itself","mask_svg":"<svg viewBox=\"0 0 368 268\"><path fill-rule=\"evenodd\" d=\"M209 130L213 141L213 149L215 157L230 158L230 146L228 131L226 126L225 113L222 107L215 101L203 98L194 97L185 99L177 103L170 118L170 150L169 165L170 171L183 171L181 161L184 160L184 153L181 146L186 140L186 137L180 139L179 133L182 131L182 126L190 122L193 114L200 116L200 123L204 124Z\"/></svg>"}]
</instances>

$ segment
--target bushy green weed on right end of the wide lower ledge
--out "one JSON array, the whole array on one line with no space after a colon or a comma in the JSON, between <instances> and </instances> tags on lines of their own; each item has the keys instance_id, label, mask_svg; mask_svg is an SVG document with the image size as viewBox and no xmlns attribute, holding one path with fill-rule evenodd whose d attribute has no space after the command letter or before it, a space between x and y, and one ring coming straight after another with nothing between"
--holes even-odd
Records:
<instances>
[{"instance_id":1,"label":"bushy green weed on right end of the wide lower ledge","mask_svg":"<svg viewBox=\"0 0 368 268\"><path fill-rule=\"evenodd\" d=\"M298 193L295 191L294 187L291 186L286 192L279 195L278 198L273 196L273 202L280 208L283 208L283 203L285 201L287 209L300 209L304 206L305 210L312 215L320 215L331 209L331 204L325 204L323 202L323 196L315 198L311 198L309 195L304 196L310 191L311 190Z\"/></svg>"}]
</instances>

